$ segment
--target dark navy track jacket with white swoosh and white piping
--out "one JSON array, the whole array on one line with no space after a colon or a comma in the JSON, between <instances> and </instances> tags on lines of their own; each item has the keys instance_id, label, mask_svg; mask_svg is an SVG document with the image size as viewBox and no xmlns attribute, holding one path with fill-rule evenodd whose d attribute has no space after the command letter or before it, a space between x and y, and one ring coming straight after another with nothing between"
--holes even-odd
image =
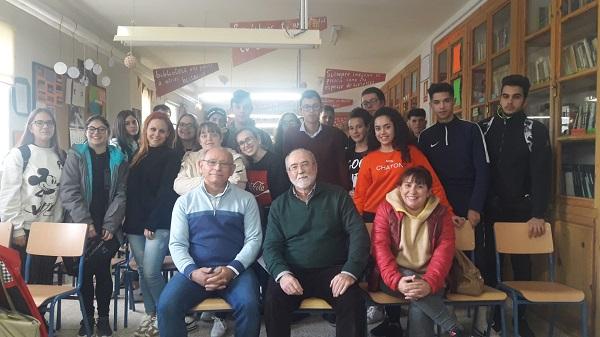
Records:
<instances>
[{"instance_id":1,"label":"dark navy track jacket with white swoosh and white piping","mask_svg":"<svg viewBox=\"0 0 600 337\"><path fill-rule=\"evenodd\" d=\"M483 212L489 185L489 159L477 124L453 118L436 123L419 136L419 149L440 178L448 201L459 216Z\"/></svg>"}]
</instances>

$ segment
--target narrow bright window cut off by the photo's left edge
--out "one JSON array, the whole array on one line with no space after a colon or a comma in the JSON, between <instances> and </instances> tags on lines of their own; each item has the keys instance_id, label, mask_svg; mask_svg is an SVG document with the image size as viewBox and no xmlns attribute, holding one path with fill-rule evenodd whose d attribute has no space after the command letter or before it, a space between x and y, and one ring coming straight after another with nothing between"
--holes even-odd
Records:
<instances>
[{"instance_id":1,"label":"narrow bright window cut off by the photo's left edge","mask_svg":"<svg viewBox=\"0 0 600 337\"><path fill-rule=\"evenodd\" d=\"M10 149L10 88L15 68L14 32L0 22L0 157Z\"/></svg>"}]
</instances>

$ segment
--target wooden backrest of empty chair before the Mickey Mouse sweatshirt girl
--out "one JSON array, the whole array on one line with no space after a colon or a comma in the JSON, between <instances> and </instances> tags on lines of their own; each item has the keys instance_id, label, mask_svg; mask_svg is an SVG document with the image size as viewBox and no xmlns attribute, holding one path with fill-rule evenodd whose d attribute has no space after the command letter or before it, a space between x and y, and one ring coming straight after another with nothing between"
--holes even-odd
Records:
<instances>
[{"instance_id":1,"label":"wooden backrest of empty chair before the Mickey Mouse sweatshirt girl","mask_svg":"<svg viewBox=\"0 0 600 337\"><path fill-rule=\"evenodd\" d=\"M82 223L34 222L31 224L27 253L47 256L81 256L87 225Z\"/></svg>"}]
</instances>

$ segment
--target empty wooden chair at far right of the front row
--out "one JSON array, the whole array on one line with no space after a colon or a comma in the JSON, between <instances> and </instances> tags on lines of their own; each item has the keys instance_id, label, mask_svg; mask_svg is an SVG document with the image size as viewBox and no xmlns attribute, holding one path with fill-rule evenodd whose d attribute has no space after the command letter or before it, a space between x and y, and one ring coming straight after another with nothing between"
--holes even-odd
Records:
<instances>
[{"instance_id":1,"label":"empty wooden chair at far right of the front row","mask_svg":"<svg viewBox=\"0 0 600 337\"><path fill-rule=\"evenodd\" d=\"M552 228L545 224L544 235L530 238L529 225L525 222L496 222L496 273L498 288L509 293L513 302L513 334L519 331L519 304L566 304L577 303L581 308L581 336L588 336L587 304L585 294L564 284L555 282L554 244ZM500 254L547 254L549 281L502 281L500 274ZM554 331L554 319L549 320L549 335Z\"/></svg>"}]
</instances>

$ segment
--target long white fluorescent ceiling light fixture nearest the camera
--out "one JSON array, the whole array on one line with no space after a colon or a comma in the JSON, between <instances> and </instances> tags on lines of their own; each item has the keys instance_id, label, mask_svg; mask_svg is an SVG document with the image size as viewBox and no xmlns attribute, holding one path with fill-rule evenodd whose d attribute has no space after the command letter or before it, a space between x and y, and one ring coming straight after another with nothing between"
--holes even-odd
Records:
<instances>
[{"instance_id":1,"label":"long white fluorescent ceiling light fixture nearest the camera","mask_svg":"<svg viewBox=\"0 0 600 337\"><path fill-rule=\"evenodd\" d=\"M318 30L119 26L114 41L133 46L307 49L318 48L321 36Z\"/></svg>"}]
</instances>

